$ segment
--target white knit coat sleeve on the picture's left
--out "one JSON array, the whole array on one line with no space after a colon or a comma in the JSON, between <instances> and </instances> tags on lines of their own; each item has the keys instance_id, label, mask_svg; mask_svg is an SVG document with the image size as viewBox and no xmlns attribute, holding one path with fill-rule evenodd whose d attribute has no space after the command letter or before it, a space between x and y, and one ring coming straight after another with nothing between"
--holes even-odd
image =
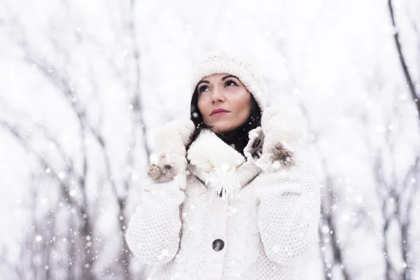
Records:
<instances>
[{"instance_id":1,"label":"white knit coat sleeve on the picture's left","mask_svg":"<svg viewBox=\"0 0 420 280\"><path fill-rule=\"evenodd\" d=\"M147 179L141 204L132 214L125 239L134 255L146 265L171 261L179 251L181 216L186 188L186 159L176 162L179 172L172 181Z\"/></svg>"}]
</instances>

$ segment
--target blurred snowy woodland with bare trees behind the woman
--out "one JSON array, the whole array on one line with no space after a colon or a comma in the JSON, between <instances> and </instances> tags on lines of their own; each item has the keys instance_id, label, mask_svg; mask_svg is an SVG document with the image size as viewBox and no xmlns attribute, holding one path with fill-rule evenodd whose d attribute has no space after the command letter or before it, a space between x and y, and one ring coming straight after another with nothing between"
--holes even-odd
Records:
<instances>
[{"instance_id":1,"label":"blurred snowy woodland with bare trees behind the woman","mask_svg":"<svg viewBox=\"0 0 420 280\"><path fill-rule=\"evenodd\" d=\"M147 278L123 235L153 136L218 48L307 121L300 279L420 279L419 0L0 0L1 279Z\"/></svg>"}]
</instances>

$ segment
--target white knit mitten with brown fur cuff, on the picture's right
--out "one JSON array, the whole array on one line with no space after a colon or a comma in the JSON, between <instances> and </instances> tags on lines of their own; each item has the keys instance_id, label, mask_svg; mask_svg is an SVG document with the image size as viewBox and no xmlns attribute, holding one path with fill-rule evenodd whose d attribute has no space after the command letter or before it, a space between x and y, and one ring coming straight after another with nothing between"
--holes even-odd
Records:
<instances>
[{"instance_id":1,"label":"white knit mitten with brown fur cuff, on the picture's right","mask_svg":"<svg viewBox=\"0 0 420 280\"><path fill-rule=\"evenodd\" d=\"M286 107L269 107L262 114L261 127L264 144L256 165L270 173L295 165L295 148L302 138L302 118Z\"/></svg>"}]
</instances>

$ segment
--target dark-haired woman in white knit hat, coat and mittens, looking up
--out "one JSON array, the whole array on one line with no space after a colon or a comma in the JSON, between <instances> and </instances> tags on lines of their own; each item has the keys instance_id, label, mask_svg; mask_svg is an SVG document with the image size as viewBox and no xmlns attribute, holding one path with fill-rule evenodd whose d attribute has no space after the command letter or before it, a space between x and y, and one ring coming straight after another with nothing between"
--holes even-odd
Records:
<instances>
[{"instance_id":1,"label":"dark-haired woman in white knit hat, coat and mittens, looking up","mask_svg":"<svg viewBox=\"0 0 420 280\"><path fill-rule=\"evenodd\" d=\"M295 279L316 239L314 169L298 149L302 120L266 108L253 66L211 52L197 67L191 119L155 137L126 239L150 279Z\"/></svg>"}]
</instances>

